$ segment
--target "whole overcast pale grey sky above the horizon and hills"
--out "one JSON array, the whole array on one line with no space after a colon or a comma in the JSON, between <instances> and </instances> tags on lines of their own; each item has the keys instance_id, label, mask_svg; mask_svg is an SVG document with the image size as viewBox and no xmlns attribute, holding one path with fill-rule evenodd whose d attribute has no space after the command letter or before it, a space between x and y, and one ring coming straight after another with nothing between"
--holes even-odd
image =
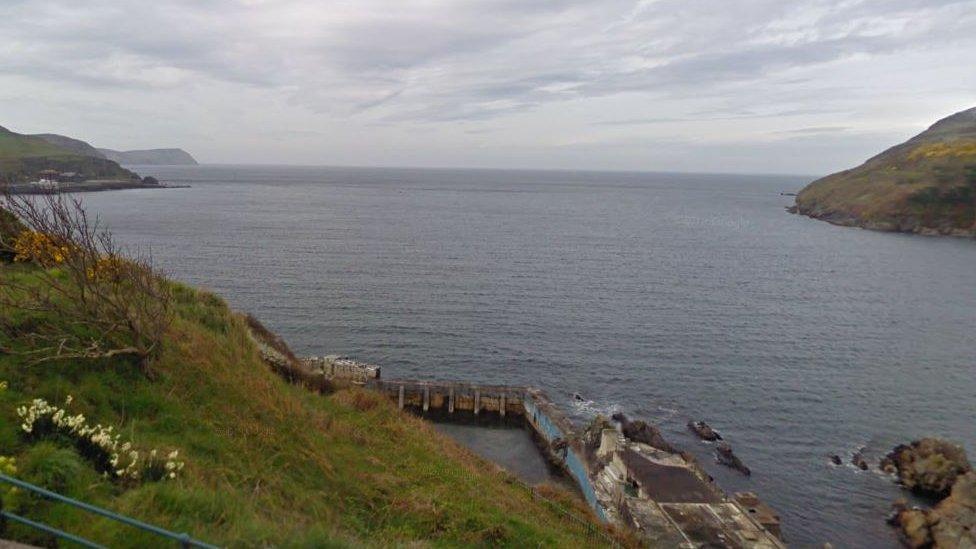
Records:
<instances>
[{"instance_id":1,"label":"whole overcast pale grey sky above the horizon and hills","mask_svg":"<svg viewBox=\"0 0 976 549\"><path fill-rule=\"evenodd\" d=\"M0 0L0 125L201 162L818 175L976 106L976 0Z\"/></svg>"}]
</instances>

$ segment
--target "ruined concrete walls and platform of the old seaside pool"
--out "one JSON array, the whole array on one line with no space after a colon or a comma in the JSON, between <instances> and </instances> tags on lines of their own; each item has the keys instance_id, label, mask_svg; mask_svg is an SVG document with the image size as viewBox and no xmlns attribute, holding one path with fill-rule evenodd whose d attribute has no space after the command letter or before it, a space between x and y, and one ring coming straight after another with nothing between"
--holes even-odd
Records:
<instances>
[{"instance_id":1,"label":"ruined concrete walls and platform of the old seaside pool","mask_svg":"<svg viewBox=\"0 0 976 549\"><path fill-rule=\"evenodd\" d=\"M633 529L653 546L785 547L779 517L755 494L729 497L689 455L628 440L606 420L604 428L581 431L538 389L387 380L377 366L337 356L304 363L333 382L362 385L435 421L528 429L601 520Z\"/></svg>"}]
</instances>

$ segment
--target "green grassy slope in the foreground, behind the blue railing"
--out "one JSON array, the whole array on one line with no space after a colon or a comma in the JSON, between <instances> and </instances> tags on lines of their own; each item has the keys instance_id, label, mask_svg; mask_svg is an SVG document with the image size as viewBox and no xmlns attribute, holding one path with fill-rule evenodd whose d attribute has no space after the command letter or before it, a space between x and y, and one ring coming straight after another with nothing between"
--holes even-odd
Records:
<instances>
[{"instance_id":1,"label":"green grassy slope in the foreground, behind the blue railing","mask_svg":"<svg viewBox=\"0 0 976 549\"><path fill-rule=\"evenodd\" d=\"M30 282L37 268L0 264L0 276ZM508 474L378 395L321 396L284 382L219 298L178 284L173 295L152 379L124 359L32 366L0 354L0 380L9 383L0 392L0 455L16 458L17 476L228 546L599 545ZM31 323L17 317L25 331ZM3 337L22 345L16 334ZM61 404L69 394L72 412L138 447L178 449L183 476L123 489L70 445L25 439L15 408L38 397ZM587 516L585 505L554 494ZM109 546L153 541L63 506L19 501L28 516ZM46 539L21 527L8 535Z\"/></svg>"}]
</instances>

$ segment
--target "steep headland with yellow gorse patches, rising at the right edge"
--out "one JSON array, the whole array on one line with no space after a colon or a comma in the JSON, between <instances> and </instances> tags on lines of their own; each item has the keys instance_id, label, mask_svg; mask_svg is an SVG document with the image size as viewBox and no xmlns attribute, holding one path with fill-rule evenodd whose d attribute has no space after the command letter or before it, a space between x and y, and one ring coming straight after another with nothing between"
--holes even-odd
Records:
<instances>
[{"instance_id":1,"label":"steep headland with yellow gorse patches, rising at the right edge","mask_svg":"<svg viewBox=\"0 0 976 549\"><path fill-rule=\"evenodd\" d=\"M867 229L976 236L976 108L814 181L792 211Z\"/></svg>"}]
</instances>

